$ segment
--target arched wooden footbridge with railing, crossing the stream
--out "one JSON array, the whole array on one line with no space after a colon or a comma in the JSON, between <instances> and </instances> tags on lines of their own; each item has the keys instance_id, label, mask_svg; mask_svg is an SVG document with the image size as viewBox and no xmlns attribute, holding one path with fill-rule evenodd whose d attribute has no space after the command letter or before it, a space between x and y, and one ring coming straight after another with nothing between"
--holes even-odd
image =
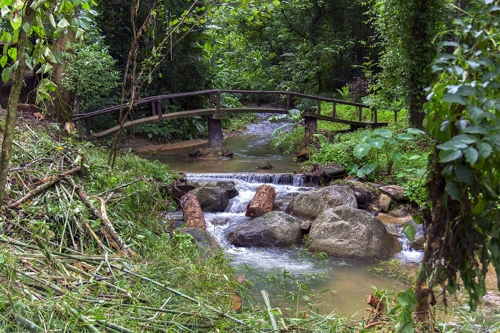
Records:
<instances>
[{"instance_id":1,"label":"arched wooden footbridge with railing, crossing the stream","mask_svg":"<svg viewBox=\"0 0 500 333\"><path fill-rule=\"evenodd\" d=\"M274 108L260 108L260 107L243 107L243 108L221 108L220 107L220 94L221 93L244 93L244 94L275 94L275 107ZM189 96L197 96L197 95L208 95L208 100L210 102L210 107L207 109L198 109L198 110L186 110L180 112L171 112L171 113L162 113L161 111L161 101L164 99L171 98L179 98L179 97L189 97ZM215 95L215 107L213 107L213 95ZM279 108L278 102L280 95L286 96L285 108ZM253 91L253 90L220 90L220 89L210 89L210 90L200 90L200 91L192 91L192 92L182 92L176 94L168 94L168 95L160 95L160 96L150 96L143 99L140 99L134 103L134 105L140 104L151 104L152 115L150 117L135 119L132 121L128 121L123 124L122 128L127 129L130 127L134 127L137 125L149 124L161 120L167 119L177 119L184 117L192 117L192 116L203 116L208 119L208 148L212 149L220 149L222 148L222 126L221 119L225 119L228 113L288 113L290 109L290 98L291 97L299 97L299 98L307 98L313 99L317 101L317 113L310 112L302 112L302 117L304 118L304 126L306 130L316 130L317 128L317 120L326 120L332 121L342 124L350 125L351 130L356 130L358 128L370 127L383 127L387 126L386 122L380 123L377 122L377 114L376 109L371 108L366 104L359 103L351 103L345 102L338 99L332 98L324 98L317 97L311 95L299 94L296 92L290 91ZM331 110L330 116L321 115L321 102L330 102L333 103L333 108ZM335 107L337 104L343 105L352 105L358 108L358 121L345 120L336 118ZM123 105L123 109L126 110L129 108L129 105ZM361 121L362 119L362 111L363 108L370 109L371 113L371 121ZM90 122L89 119L101 114L106 114L113 111L118 111L120 109L120 105L108 107L102 110L77 114L74 115L73 120L76 121L85 121L86 133L90 135ZM103 132L94 134L96 138L106 138L111 136L119 131L120 126L114 126L110 129L107 129Z\"/></svg>"}]
</instances>

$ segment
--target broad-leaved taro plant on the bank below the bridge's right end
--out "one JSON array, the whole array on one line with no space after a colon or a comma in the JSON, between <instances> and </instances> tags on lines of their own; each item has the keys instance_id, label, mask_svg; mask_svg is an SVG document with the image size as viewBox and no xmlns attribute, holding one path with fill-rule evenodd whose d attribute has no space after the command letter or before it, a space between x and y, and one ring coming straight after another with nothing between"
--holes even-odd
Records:
<instances>
[{"instance_id":1,"label":"broad-leaved taro plant on the bank below the bridge's right end","mask_svg":"<svg viewBox=\"0 0 500 333\"><path fill-rule=\"evenodd\" d=\"M390 174L394 162L404 166L404 161L420 158L420 155L410 157L404 156L400 150L406 141L414 138L414 135L423 134L424 132L416 128L406 129L406 133L394 134L392 131L380 128L373 132L362 132L359 134L360 143L354 146L352 154L359 161L365 161L364 164L351 163L349 175L356 174L358 177L367 176L373 178L378 170L379 165L383 162L386 166L384 173ZM411 169L406 169L406 172L411 172ZM416 171L413 170L413 171ZM398 177L403 177L404 173L399 173Z\"/></svg>"}]
</instances>

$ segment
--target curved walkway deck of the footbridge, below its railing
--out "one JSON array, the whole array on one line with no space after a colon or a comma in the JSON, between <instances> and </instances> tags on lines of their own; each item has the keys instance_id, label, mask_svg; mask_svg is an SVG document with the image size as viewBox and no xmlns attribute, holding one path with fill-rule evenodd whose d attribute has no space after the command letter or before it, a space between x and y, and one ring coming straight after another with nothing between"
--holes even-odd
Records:
<instances>
[{"instance_id":1,"label":"curved walkway deck of the footbridge, below its railing","mask_svg":"<svg viewBox=\"0 0 500 333\"><path fill-rule=\"evenodd\" d=\"M284 109L260 108L260 107L221 108L220 113L217 113L217 109L215 109L215 108L199 109L199 110L186 110L186 111L180 111L180 112L164 113L164 114L162 114L161 119L159 119L158 116L150 116L150 117L146 117L146 118L128 121L128 122L123 124L123 129L127 129L127 128L138 126L138 125L150 124L150 123L157 122L160 120L178 119L178 118L192 117L192 116L213 115L213 117L220 119L220 118L225 118L225 115L227 113L288 113L288 111L284 110ZM372 123L372 122L364 122L364 121L343 120L343 119L337 119L337 118L332 118L332 117L323 116L323 115L316 114L316 113L308 113L308 112L302 113L302 116L316 118L319 120L326 120L326 121L347 124L347 125L350 125L351 129L357 129L357 128L362 128L362 127L375 128L375 127L387 126L387 123L380 123L380 122ZM107 137L117 133L119 128L120 128L119 125L114 126L114 127L109 128L105 131L102 131L100 133L96 133L96 134L94 134L94 136L96 138L99 138L99 139L107 138Z\"/></svg>"}]
</instances>

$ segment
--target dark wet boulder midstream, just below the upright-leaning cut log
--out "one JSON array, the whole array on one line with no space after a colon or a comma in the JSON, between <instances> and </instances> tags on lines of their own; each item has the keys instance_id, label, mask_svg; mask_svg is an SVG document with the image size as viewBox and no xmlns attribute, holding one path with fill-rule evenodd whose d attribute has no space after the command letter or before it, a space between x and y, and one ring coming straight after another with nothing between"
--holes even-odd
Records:
<instances>
[{"instance_id":1,"label":"dark wet boulder midstream, just below the upright-leaning cut log","mask_svg":"<svg viewBox=\"0 0 500 333\"><path fill-rule=\"evenodd\" d=\"M293 216L272 211L238 225L227 239L235 246L288 246L300 241L300 224Z\"/></svg>"}]
</instances>

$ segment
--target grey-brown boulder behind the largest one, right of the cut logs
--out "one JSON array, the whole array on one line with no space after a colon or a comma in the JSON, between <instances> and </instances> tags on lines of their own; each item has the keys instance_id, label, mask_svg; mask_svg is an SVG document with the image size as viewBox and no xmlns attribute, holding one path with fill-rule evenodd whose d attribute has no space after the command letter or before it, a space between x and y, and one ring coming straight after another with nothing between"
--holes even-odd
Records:
<instances>
[{"instance_id":1,"label":"grey-brown boulder behind the largest one, right of the cut logs","mask_svg":"<svg viewBox=\"0 0 500 333\"><path fill-rule=\"evenodd\" d=\"M357 201L348 186L332 185L297 194L285 213L315 219L323 210L346 205L357 208Z\"/></svg>"}]
</instances>

